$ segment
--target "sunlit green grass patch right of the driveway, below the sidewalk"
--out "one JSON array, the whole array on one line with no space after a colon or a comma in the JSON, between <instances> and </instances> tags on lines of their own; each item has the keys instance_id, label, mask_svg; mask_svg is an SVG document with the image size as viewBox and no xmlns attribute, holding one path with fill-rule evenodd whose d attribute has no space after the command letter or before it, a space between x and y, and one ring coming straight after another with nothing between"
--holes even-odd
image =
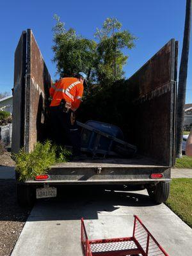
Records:
<instances>
[{"instance_id":1,"label":"sunlit green grass patch right of the driveway, below the sidewalk","mask_svg":"<svg viewBox=\"0 0 192 256\"><path fill-rule=\"evenodd\" d=\"M166 205L192 227L192 179L173 179Z\"/></svg>"}]
</instances>

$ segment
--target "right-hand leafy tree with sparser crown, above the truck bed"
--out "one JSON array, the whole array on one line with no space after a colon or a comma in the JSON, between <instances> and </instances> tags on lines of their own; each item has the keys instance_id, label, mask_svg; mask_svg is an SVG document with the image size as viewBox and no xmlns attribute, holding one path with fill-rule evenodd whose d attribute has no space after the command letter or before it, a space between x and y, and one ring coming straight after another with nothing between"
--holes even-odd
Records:
<instances>
[{"instance_id":1,"label":"right-hand leafy tree with sparser crown, above the truck bed","mask_svg":"<svg viewBox=\"0 0 192 256\"><path fill-rule=\"evenodd\" d=\"M102 28L98 29L95 37L99 40L97 45L97 76L101 84L113 83L124 77L123 67L128 56L123 49L132 49L136 36L129 31L122 30L122 24L115 18L104 21Z\"/></svg>"}]
</instances>

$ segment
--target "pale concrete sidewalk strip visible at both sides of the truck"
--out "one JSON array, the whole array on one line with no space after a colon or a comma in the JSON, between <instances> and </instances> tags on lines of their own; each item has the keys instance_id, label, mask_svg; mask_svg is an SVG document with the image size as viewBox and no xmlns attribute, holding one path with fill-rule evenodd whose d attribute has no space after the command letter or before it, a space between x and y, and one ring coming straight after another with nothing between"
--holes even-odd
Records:
<instances>
[{"instance_id":1,"label":"pale concrete sidewalk strip visible at both sides of the truck","mask_svg":"<svg viewBox=\"0 0 192 256\"><path fill-rule=\"evenodd\" d=\"M192 178L192 169L172 168L172 179ZM0 179L15 179L15 168L12 166L0 166Z\"/></svg>"}]
</instances>

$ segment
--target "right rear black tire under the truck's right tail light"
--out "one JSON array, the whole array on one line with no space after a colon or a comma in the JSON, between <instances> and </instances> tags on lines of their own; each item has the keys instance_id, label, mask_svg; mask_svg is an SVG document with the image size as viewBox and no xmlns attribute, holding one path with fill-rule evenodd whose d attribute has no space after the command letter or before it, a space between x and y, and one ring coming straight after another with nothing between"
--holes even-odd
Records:
<instances>
[{"instance_id":1,"label":"right rear black tire under the truck's right tail light","mask_svg":"<svg viewBox=\"0 0 192 256\"><path fill-rule=\"evenodd\" d=\"M166 202L170 195L170 182L159 182L147 188L148 195L157 204Z\"/></svg>"}]
</instances>

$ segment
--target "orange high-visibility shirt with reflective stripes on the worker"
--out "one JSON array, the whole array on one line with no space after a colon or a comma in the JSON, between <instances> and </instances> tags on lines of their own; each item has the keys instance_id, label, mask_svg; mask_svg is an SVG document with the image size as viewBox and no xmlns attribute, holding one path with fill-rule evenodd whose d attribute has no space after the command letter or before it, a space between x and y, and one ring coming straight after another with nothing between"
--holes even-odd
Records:
<instances>
[{"instance_id":1,"label":"orange high-visibility shirt with reflective stripes on the worker","mask_svg":"<svg viewBox=\"0 0 192 256\"><path fill-rule=\"evenodd\" d=\"M49 89L52 97L51 107L59 106L61 99L72 104L72 111L79 108L83 96L83 84L75 77L65 77L60 79Z\"/></svg>"}]
</instances>

